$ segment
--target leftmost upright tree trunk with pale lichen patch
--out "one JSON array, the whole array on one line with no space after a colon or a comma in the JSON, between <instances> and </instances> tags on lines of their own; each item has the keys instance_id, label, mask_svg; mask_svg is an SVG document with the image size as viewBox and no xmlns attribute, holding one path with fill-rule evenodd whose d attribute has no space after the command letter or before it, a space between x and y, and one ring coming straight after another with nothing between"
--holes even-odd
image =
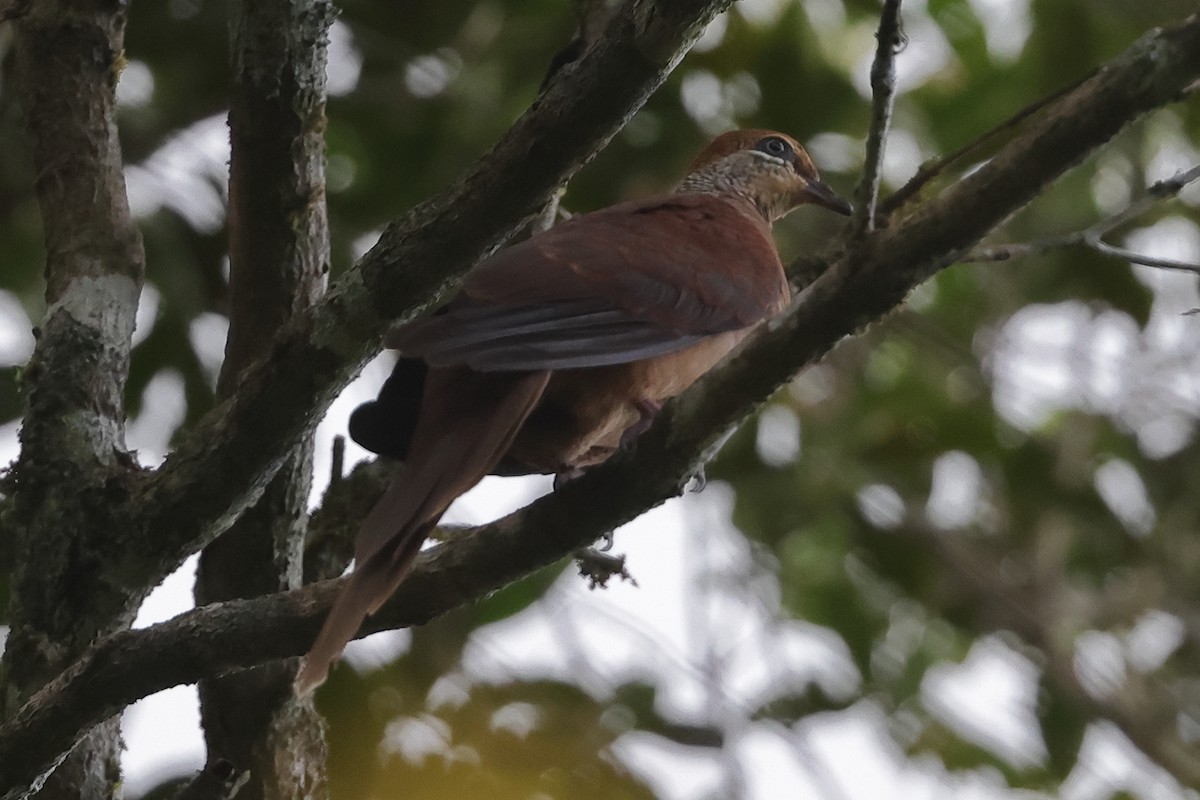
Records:
<instances>
[{"instance_id":1,"label":"leftmost upright tree trunk with pale lichen patch","mask_svg":"<svg viewBox=\"0 0 1200 800\"><path fill-rule=\"evenodd\" d=\"M125 4L59 0L26 11L17 88L37 175L47 309L23 380L5 717L97 637L127 627L145 591L106 559L110 509L127 498L132 474L124 391L145 270L115 125ZM119 756L118 720L100 722L40 796L110 798Z\"/></svg>"}]
</instances>

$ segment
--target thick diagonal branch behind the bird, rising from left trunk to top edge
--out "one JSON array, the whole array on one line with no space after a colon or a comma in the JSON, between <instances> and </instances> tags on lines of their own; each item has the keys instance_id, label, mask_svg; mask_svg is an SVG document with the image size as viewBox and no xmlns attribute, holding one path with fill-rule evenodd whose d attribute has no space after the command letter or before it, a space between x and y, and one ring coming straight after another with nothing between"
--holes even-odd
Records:
<instances>
[{"instance_id":1,"label":"thick diagonal branch behind the bird, rising from left trunk to top edge","mask_svg":"<svg viewBox=\"0 0 1200 800\"><path fill-rule=\"evenodd\" d=\"M428 309L540 207L642 106L731 0L626 0L606 35L563 67L462 180L390 225L379 243L242 374L131 501L121 564L154 585L228 528L379 347L388 324Z\"/></svg>"}]
</instances>

